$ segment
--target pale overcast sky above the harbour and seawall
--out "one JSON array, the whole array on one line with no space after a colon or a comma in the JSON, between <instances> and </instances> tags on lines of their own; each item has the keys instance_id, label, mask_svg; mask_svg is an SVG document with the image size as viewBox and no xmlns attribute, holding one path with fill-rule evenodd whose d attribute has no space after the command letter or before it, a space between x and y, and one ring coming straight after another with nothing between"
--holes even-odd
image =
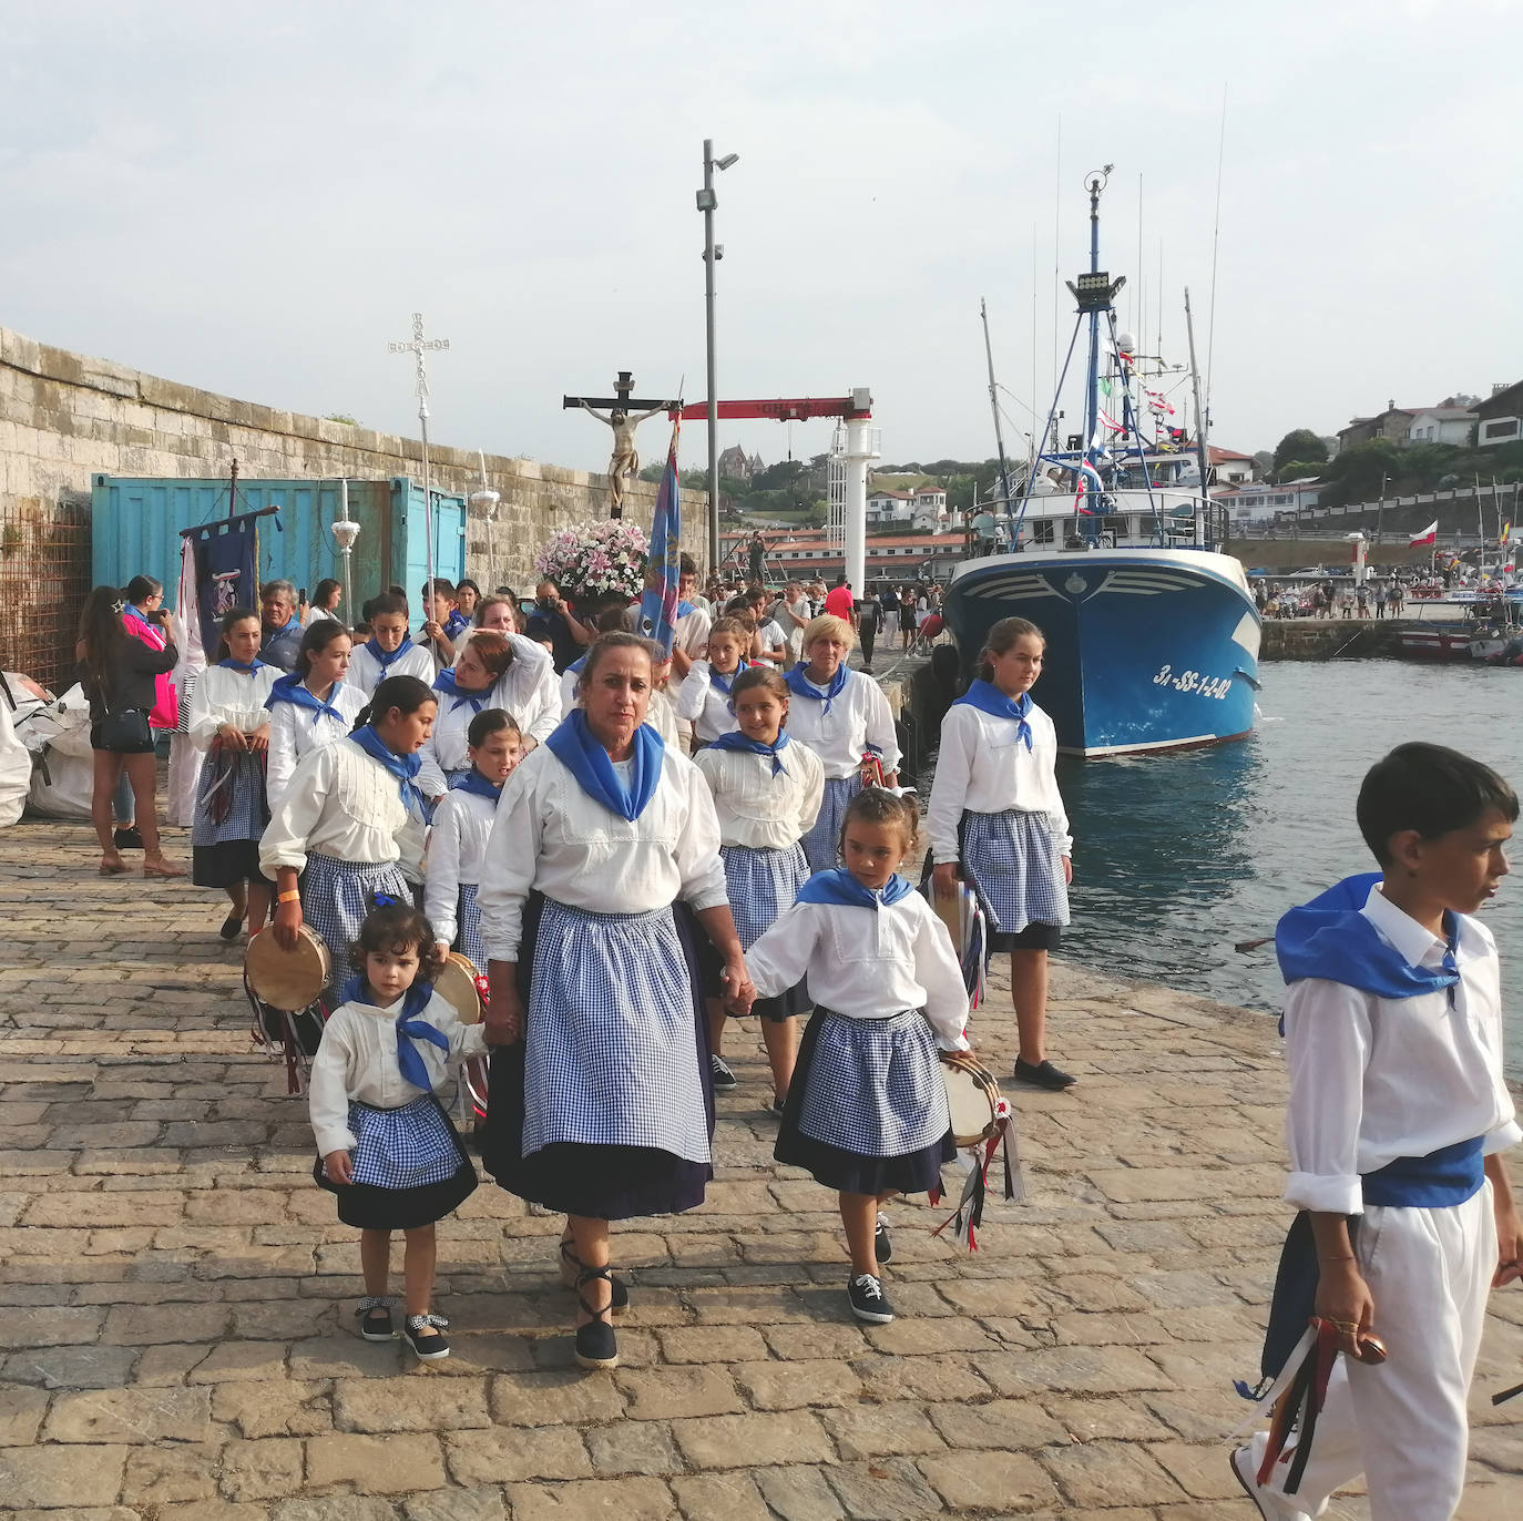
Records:
<instances>
[{"instance_id":1,"label":"pale overcast sky above the harbour and seawall","mask_svg":"<svg viewBox=\"0 0 1523 1521\"><path fill-rule=\"evenodd\" d=\"M422 309L439 442L602 467L562 393L704 397L705 136L720 396L868 385L891 461L993 452L979 297L1023 452L1110 161L1122 326L1151 352L1162 298L1183 361L1189 286L1217 443L1523 375L1515 0L0 0L0 324L295 411L416 434Z\"/></svg>"}]
</instances>

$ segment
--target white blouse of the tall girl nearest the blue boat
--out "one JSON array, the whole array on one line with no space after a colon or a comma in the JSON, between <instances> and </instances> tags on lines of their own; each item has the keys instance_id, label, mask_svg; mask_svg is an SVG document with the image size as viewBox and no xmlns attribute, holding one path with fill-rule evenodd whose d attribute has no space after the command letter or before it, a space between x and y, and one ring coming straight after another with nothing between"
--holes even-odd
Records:
<instances>
[{"instance_id":1,"label":"white blouse of the tall girl nearest the blue boat","mask_svg":"<svg viewBox=\"0 0 1523 1521\"><path fill-rule=\"evenodd\" d=\"M956 830L964 810L1045 813L1058 854L1072 854L1074 836L1068 831L1068 810L1057 789L1057 729L1036 703L1027 723L1031 726L1030 751L1014 719L984 713L970 702L947 708L926 808L926 833L938 863L958 860Z\"/></svg>"}]
</instances>

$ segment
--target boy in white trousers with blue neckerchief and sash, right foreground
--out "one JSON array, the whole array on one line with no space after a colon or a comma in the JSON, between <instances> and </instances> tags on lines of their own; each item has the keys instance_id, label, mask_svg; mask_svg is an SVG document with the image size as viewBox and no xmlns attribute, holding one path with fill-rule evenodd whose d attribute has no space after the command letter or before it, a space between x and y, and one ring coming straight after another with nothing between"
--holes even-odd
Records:
<instances>
[{"instance_id":1,"label":"boy in white trousers with blue neckerchief and sash, right foreground","mask_svg":"<svg viewBox=\"0 0 1523 1521\"><path fill-rule=\"evenodd\" d=\"M1489 767L1401 745L1359 793L1381 871L1279 921L1285 1198L1305 1215L1292 1242L1314 1253L1301 1267L1343 1357L1305 1452L1258 1436L1232 1454L1269 1521L1320 1515L1360 1472L1374 1521L1448 1521L1459 1506L1486 1293L1520 1276L1502 1153L1523 1133L1502 1075L1496 941L1473 917L1508 872L1517 816ZM1276 1309L1293 1256L1287 1244Z\"/></svg>"}]
</instances>

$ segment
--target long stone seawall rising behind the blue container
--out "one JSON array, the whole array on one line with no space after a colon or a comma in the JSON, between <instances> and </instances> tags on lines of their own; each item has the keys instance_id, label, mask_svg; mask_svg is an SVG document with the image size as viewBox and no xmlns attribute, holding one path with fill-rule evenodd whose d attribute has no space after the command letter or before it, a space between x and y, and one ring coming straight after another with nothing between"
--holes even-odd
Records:
<instances>
[{"instance_id":1,"label":"long stone seawall rising behind the blue container","mask_svg":"<svg viewBox=\"0 0 1523 1521\"><path fill-rule=\"evenodd\" d=\"M219 477L235 457L245 480L422 475L416 438L235 400L0 327L0 644L15 659L56 659L53 646L72 646L79 583L87 589L90 576L78 519L91 475ZM431 445L429 463L442 490L469 496L481 486L474 449ZM472 510L466 530L466 566L483 585L522 589L550 534L608 513L605 475L493 454L486 475L503 498L490 560L486 518ZM653 486L635 484L631 518L647 528L655 496ZM707 498L684 493L684 547L699 557L705 515Z\"/></svg>"}]
</instances>

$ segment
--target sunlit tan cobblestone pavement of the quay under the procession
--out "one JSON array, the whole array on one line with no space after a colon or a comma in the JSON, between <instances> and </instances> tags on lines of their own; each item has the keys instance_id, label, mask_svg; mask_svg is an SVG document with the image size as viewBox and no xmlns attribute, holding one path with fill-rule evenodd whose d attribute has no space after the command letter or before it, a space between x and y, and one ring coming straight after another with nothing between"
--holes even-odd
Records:
<instances>
[{"instance_id":1,"label":"sunlit tan cobblestone pavement of the quay under the procession","mask_svg":"<svg viewBox=\"0 0 1523 1521\"><path fill-rule=\"evenodd\" d=\"M0 1507L1252 1513L1223 1436L1285 1223L1266 1019L1060 968L1054 1049L1083 1081L1017 1096L1030 1203L991 1207L976 1256L896 1209L900 1317L873 1329L844 1311L832 1195L772 1162L757 1032L733 1026L710 1201L615 1238L623 1366L571 1366L559 1221L483 1186L440 1227L455 1352L420 1367L353 1334L355 1236L312 1186L303 1107L248 1044L221 900L102 880L82 827L32 822L0 836ZM975 1025L999 1067L1010 1026L999 991ZM1518 1405L1485 1401L1520 1367L1512 1290L1477 1376L1468 1521L1520 1513Z\"/></svg>"}]
</instances>

